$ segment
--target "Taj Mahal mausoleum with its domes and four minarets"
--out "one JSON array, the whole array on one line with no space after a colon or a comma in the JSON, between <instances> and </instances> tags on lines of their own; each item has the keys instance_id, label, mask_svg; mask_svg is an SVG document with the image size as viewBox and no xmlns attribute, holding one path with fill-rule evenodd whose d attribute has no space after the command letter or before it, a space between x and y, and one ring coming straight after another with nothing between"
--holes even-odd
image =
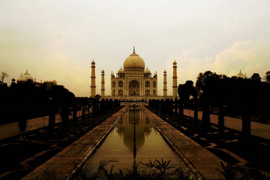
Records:
<instances>
[{"instance_id":1,"label":"Taj Mahal mausoleum with its domes and four minarets","mask_svg":"<svg viewBox=\"0 0 270 180\"><path fill-rule=\"evenodd\" d=\"M96 95L95 85L95 61L91 62L91 93L90 97ZM145 68L144 60L135 52L129 55L116 75L111 72L110 95L105 96L105 71L101 71L101 98L112 98L120 100L148 100L148 99L168 99L178 98L177 94L177 65L173 62L173 95L167 96L167 71L164 70L163 96L158 96L158 74L157 71L152 75L148 67Z\"/></svg>"}]
</instances>

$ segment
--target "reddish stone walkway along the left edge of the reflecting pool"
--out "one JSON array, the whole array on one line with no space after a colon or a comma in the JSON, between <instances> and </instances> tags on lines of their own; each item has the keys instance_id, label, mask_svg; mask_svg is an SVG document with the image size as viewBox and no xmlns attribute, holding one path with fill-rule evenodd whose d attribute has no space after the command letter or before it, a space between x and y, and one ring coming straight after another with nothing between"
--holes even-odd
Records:
<instances>
[{"instance_id":1,"label":"reddish stone walkway along the left edge of the reflecting pool","mask_svg":"<svg viewBox=\"0 0 270 180\"><path fill-rule=\"evenodd\" d=\"M128 106L123 107L113 116L86 133L83 137L76 140L70 146L67 146L53 158L46 161L44 164L36 168L22 179L37 179L44 168L55 168L56 171L59 171L64 177L68 176L68 174L70 174L75 168L73 162L79 163L86 155L90 155L98 143L100 143L106 137L112 126L127 109Z\"/></svg>"}]
</instances>

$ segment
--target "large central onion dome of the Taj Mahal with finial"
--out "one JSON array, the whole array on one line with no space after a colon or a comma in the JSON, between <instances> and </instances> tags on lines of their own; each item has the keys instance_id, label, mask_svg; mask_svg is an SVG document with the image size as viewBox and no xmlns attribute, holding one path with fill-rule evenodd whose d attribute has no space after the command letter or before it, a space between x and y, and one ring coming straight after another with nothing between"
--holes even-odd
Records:
<instances>
[{"instance_id":1,"label":"large central onion dome of the Taj Mahal with finial","mask_svg":"<svg viewBox=\"0 0 270 180\"><path fill-rule=\"evenodd\" d=\"M135 50L133 50L133 53L124 61L124 70L144 70L144 68L144 61L135 53Z\"/></svg>"}]
</instances>

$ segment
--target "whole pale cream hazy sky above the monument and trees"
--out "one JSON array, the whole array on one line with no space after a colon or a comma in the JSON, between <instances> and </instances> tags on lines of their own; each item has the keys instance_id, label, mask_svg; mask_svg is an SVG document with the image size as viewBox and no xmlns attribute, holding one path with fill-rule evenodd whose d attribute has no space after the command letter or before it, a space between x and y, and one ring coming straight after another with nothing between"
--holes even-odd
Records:
<instances>
[{"instance_id":1,"label":"whole pale cream hazy sky above the monument and trees","mask_svg":"<svg viewBox=\"0 0 270 180\"><path fill-rule=\"evenodd\" d=\"M200 72L248 77L270 70L270 1L12 1L1 0L0 71L10 84L28 72L36 81L55 79L76 96L90 96L91 61L96 93L101 70L105 95L133 52L158 73L163 95L167 71L172 95L173 61L178 84Z\"/></svg>"}]
</instances>

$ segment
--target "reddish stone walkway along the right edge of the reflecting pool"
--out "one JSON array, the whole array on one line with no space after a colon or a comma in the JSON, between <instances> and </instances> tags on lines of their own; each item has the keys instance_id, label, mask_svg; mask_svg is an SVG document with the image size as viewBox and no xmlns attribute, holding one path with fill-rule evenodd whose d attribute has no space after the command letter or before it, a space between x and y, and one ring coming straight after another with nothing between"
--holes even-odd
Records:
<instances>
[{"instance_id":1,"label":"reddish stone walkway along the right edge of the reflecting pool","mask_svg":"<svg viewBox=\"0 0 270 180\"><path fill-rule=\"evenodd\" d=\"M146 109L146 107L141 108L177 148L178 152L180 152L180 157L187 163L187 166L190 167L188 164L191 164L191 167L193 166L199 173L204 173L205 179L224 179L224 177L216 170L221 168L220 161L223 161L220 158L182 134L176 128ZM223 164L225 163L223 162Z\"/></svg>"}]
</instances>

